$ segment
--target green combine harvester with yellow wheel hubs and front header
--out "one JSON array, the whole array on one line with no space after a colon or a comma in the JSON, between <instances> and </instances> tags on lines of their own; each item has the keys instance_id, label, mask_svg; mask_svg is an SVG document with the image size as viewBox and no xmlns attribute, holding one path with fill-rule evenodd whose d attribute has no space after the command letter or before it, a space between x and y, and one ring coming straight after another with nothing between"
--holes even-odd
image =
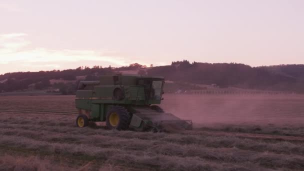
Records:
<instances>
[{"instance_id":1,"label":"green combine harvester with yellow wheel hubs and front header","mask_svg":"<svg viewBox=\"0 0 304 171\"><path fill-rule=\"evenodd\" d=\"M192 129L191 120L181 120L154 104L163 99L164 78L159 76L106 75L99 81L81 81L76 92L76 124L105 121L109 129L170 131Z\"/></svg>"}]
</instances>

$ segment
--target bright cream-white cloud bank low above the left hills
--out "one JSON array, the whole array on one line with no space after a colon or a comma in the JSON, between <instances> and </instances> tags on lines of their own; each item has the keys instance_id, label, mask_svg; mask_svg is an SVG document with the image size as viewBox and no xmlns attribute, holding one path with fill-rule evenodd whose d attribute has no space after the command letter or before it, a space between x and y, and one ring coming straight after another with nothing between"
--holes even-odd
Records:
<instances>
[{"instance_id":1,"label":"bright cream-white cloud bank low above the left hills","mask_svg":"<svg viewBox=\"0 0 304 171\"><path fill-rule=\"evenodd\" d=\"M26 33L0 34L0 65L12 65L15 68L26 70L49 70L71 68L75 65L124 66L131 63L121 53L113 50L72 50L72 49L47 49L31 47L26 39ZM137 61L138 62L138 61ZM73 65L71 65L72 63ZM1 70L0 73L10 72L12 69ZM15 71L15 69L14 69Z\"/></svg>"}]
</instances>

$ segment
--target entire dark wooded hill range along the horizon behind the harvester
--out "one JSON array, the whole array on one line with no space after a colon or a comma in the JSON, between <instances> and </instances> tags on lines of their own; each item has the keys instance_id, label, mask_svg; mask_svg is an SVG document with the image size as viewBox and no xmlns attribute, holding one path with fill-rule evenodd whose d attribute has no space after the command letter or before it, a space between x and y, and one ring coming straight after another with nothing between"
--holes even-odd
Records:
<instances>
[{"instance_id":1,"label":"entire dark wooded hill range along the horizon behind the harvester","mask_svg":"<svg viewBox=\"0 0 304 171\"><path fill-rule=\"evenodd\" d=\"M196 84L216 84L219 87L239 87L262 90L304 92L304 65L274 65L251 67L241 63L202 63L188 60L173 61L171 65L146 67L138 63L129 66L78 67L76 69L39 72L12 72L0 75L0 92L31 89L59 89L73 94L80 80L98 80L100 75L122 70L136 70L143 75L164 76L167 80ZM81 77L81 78L79 78ZM51 82L50 80L66 80Z\"/></svg>"}]
</instances>

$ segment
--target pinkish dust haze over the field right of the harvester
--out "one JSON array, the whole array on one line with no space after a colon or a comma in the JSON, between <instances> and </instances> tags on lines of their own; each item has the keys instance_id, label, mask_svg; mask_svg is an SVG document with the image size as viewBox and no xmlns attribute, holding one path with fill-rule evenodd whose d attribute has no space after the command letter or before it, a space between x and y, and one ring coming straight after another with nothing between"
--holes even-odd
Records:
<instances>
[{"instance_id":1,"label":"pinkish dust haze over the field right of the harvester","mask_svg":"<svg viewBox=\"0 0 304 171\"><path fill-rule=\"evenodd\" d=\"M214 123L302 123L303 103L304 96L293 94L165 94L160 106L201 127Z\"/></svg>"}]
</instances>

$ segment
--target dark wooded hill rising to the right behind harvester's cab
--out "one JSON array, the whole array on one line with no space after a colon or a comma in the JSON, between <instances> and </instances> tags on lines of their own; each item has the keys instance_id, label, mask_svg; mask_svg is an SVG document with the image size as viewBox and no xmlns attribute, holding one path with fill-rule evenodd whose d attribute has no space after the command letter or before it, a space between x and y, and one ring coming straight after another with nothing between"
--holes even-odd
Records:
<instances>
[{"instance_id":1,"label":"dark wooded hill rising to the right behind harvester's cab","mask_svg":"<svg viewBox=\"0 0 304 171\"><path fill-rule=\"evenodd\" d=\"M241 63L190 63L183 60L153 67L148 74L219 87L304 92L303 64L251 67Z\"/></svg>"}]
</instances>

